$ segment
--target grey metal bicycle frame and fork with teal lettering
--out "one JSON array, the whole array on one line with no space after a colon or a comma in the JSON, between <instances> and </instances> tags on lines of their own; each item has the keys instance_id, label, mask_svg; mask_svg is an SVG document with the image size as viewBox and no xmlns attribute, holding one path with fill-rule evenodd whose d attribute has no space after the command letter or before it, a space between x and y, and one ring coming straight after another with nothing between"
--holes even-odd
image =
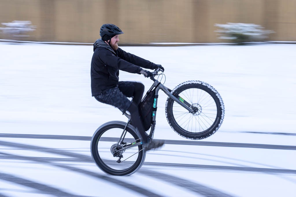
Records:
<instances>
[{"instance_id":1,"label":"grey metal bicycle frame and fork with teal lettering","mask_svg":"<svg viewBox=\"0 0 296 197\"><path fill-rule=\"evenodd\" d=\"M157 99L158 99L158 91L161 89L166 95L168 95L168 97L170 97L171 99L173 99L175 102L177 102L179 105L181 105L182 107L184 107L186 110L188 110L189 113L193 113L194 111L192 110L191 108L191 104L189 104L186 100L184 100L183 98L181 98L179 95L174 95L172 94L172 90L165 87L162 83L160 83L159 81L157 81L153 76L150 77L150 79L152 81L154 81L154 83L152 84L152 86L149 88L149 90L147 91L146 95L143 97L142 101L147 97L147 95L153 90L155 89L155 96L154 96L154 102L153 102L153 111L152 111L152 125L151 125L151 129L150 129L150 133L149 133L149 136L151 138L153 138L153 134L154 134L154 131L155 131L155 126L156 126L156 111L157 111ZM123 142L123 139L125 138L126 136L126 128L128 126L128 124L130 123L131 121L131 115L127 114L126 112L123 113L123 115L125 115L128 119L128 122L126 123L126 126L120 136L120 139L117 143L117 146L118 144L120 143L120 141ZM132 143L132 145L130 146L126 146L122 149L119 149L117 150L116 152L118 151L121 151L121 150L125 150L125 149L129 149L129 148L132 148L134 146L138 146L139 144L142 144L142 142L138 142L138 143Z\"/></svg>"}]
</instances>

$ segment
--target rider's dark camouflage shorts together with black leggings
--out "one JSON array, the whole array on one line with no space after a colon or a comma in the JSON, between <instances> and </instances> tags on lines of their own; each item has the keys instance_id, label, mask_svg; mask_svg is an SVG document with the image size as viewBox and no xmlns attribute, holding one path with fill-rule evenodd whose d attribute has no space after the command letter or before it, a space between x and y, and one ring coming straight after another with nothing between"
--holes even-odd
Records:
<instances>
[{"instance_id":1,"label":"rider's dark camouflage shorts together with black leggings","mask_svg":"<svg viewBox=\"0 0 296 197\"><path fill-rule=\"evenodd\" d=\"M140 120L138 105L141 102L144 92L144 85L138 82L119 82L118 87L110 88L106 92L96 95L95 98L99 102L117 107L122 112L129 111L131 113L131 124L138 128L144 141L147 136L144 131L143 123ZM132 97L130 101L126 97Z\"/></svg>"}]
</instances>

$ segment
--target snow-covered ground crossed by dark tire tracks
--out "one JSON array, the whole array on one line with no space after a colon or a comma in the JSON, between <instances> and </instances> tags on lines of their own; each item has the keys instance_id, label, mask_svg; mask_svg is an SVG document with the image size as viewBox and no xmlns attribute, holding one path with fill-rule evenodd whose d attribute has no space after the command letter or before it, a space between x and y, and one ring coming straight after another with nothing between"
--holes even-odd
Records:
<instances>
[{"instance_id":1,"label":"snow-covered ground crossed by dark tire tracks","mask_svg":"<svg viewBox=\"0 0 296 197\"><path fill-rule=\"evenodd\" d=\"M184 145L160 92L155 138L179 144L147 152L131 176L106 175L89 139L126 117L91 97L92 46L0 43L0 196L295 196L296 45L122 48L162 64L171 89L215 87L226 109L220 130L197 141L204 146Z\"/></svg>"}]
</instances>

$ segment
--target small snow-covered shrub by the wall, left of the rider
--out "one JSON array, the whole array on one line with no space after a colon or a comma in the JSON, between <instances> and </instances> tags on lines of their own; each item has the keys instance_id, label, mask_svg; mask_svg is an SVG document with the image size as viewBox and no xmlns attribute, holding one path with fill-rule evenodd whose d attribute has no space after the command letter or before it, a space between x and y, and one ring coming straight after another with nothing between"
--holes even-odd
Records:
<instances>
[{"instance_id":1,"label":"small snow-covered shrub by the wall, left of the rider","mask_svg":"<svg viewBox=\"0 0 296 197\"><path fill-rule=\"evenodd\" d=\"M0 30L4 34L7 34L9 38L11 37L28 37L27 32L32 32L36 29L36 26L31 25L31 21L21 21L15 20L12 22L3 22L1 25L6 27L0 27Z\"/></svg>"}]
</instances>

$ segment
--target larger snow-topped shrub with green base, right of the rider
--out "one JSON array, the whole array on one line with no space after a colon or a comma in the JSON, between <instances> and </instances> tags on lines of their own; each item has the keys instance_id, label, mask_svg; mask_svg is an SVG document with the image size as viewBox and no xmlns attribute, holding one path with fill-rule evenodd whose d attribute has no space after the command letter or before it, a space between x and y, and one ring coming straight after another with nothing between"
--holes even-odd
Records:
<instances>
[{"instance_id":1,"label":"larger snow-topped shrub with green base, right of the rider","mask_svg":"<svg viewBox=\"0 0 296 197\"><path fill-rule=\"evenodd\" d=\"M268 34L274 33L272 30L264 30L261 25L250 23L227 23L215 24L219 27L219 39L230 40L237 44L244 44L247 42L264 41L268 38Z\"/></svg>"}]
</instances>

